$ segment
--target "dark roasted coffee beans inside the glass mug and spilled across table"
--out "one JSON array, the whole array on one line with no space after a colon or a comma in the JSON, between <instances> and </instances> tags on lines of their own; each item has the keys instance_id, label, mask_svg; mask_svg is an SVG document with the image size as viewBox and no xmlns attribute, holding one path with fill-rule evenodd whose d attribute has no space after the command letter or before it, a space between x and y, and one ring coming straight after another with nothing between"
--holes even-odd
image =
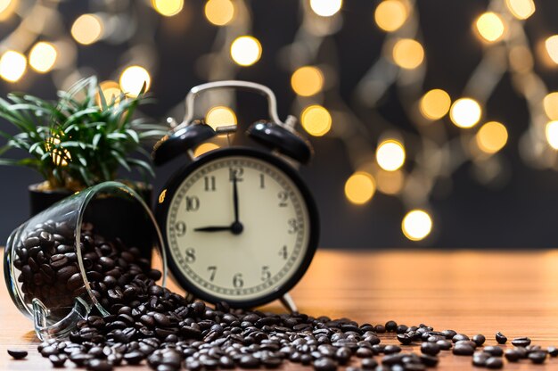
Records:
<instances>
[{"instance_id":1,"label":"dark roasted coffee beans inside the glass mug and spilled across table","mask_svg":"<svg viewBox=\"0 0 558 371\"><path fill-rule=\"evenodd\" d=\"M51 308L63 308L71 306L75 296L86 294L73 238L63 224L45 223L22 239L14 265L21 270L26 301L33 296ZM103 371L147 364L158 371L182 367L197 371L275 368L288 361L317 371L338 367L382 371L436 367L444 350L472 356L472 365L487 368L503 367L503 357L509 362L543 363L558 355L556 348L531 345L526 337L513 339L514 348L504 351L497 345L483 347L482 334L469 338L425 325L395 321L359 325L348 318L235 310L225 302L210 308L155 284L160 272L140 251L119 240L107 241L91 225L83 227L79 249L94 298L110 314L92 313L68 338L42 342L38 350L53 367L73 363ZM401 346L382 343L381 338L390 334ZM495 340L507 342L501 333ZM403 351L419 344L420 354ZM16 359L27 355L14 350L11 354Z\"/></svg>"}]
</instances>

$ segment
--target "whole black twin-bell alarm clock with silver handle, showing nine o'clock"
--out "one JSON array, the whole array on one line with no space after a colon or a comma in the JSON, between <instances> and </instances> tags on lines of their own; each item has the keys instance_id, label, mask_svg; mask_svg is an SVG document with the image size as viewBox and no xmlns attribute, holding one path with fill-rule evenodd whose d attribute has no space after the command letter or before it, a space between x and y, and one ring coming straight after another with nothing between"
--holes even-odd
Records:
<instances>
[{"instance_id":1,"label":"whole black twin-bell alarm clock with silver handle, showing nine o'clock","mask_svg":"<svg viewBox=\"0 0 558 371\"><path fill-rule=\"evenodd\" d=\"M195 97L217 88L267 97L270 120L246 130L266 150L229 145L193 156L209 138L238 130L193 120ZM307 271L319 235L316 202L294 167L308 163L310 144L294 130L295 118L278 119L275 95L259 84L203 84L185 103L185 120L152 153L156 165L183 154L191 160L164 186L155 207L172 275L204 301L251 308L279 299L297 311L288 292Z\"/></svg>"}]
</instances>

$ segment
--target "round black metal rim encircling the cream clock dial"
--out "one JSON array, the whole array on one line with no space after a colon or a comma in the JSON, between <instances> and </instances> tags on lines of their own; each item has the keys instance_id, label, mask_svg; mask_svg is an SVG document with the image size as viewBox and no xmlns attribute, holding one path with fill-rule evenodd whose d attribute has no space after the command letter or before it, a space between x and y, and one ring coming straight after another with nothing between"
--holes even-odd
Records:
<instances>
[{"instance_id":1,"label":"round black metal rim encircling the cream clock dial","mask_svg":"<svg viewBox=\"0 0 558 371\"><path fill-rule=\"evenodd\" d=\"M273 154L248 147L222 148L201 155L201 157L199 157L197 160L185 165L182 169L179 169L174 174L174 176L168 180L168 183L163 187L163 189L166 190L164 200L162 200L162 202L158 202L155 206L155 218L157 219L157 223L159 224L161 231L164 232L163 239L165 242L165 250L167 256L169 257L168 268L172 272L173 276L176 278L176 281L183 288L185 288L187 293L192 294L193 296L198 297L204 301L209 301L212 303L224 301L218 298L213 293L204 292L194 284L191 284L186 276L182 273L177 262L172 258L167 236L167 219L170 204L172 199L174 198L174 195L176 194L176 191L178 190L180 185L182 185L186 177L211 161L216 161L218 159L230 156L252 157L259 161L265 161L275 166L275 168L282 171L286 177L289 177L292 183L300 190L300 194L302 195L302 202L304 202L308 210L308 246L307 251L305 252L305 256L300 263L300 266L298 268L295 268L294 274L291 276L291 278L289 278L287 282L276 288L275 291L272 293L267 293L260 298L251 300L226 300L226 302L228 302L232 307L244 309L257 307L276 299L282 299L283 295L288 293L300 281L300 278L302 278L302 276L304 276L304 274L308 270L308 267L310 266L312 258L314 257L314 254L316 252L320 225L314 197L308 190L308 186L304 183L297 170L293 169L291 165L289 165L286 161L281 160Z\"/></svg>"}]
</instances>

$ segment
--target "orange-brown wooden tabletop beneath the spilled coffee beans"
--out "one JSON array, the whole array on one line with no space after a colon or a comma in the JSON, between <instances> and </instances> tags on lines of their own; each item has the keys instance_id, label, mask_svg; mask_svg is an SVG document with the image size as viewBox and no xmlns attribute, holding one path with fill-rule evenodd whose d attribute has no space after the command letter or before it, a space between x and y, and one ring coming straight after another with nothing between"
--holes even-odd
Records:
<instances>
[{"instance_id":1,"label":"orange-brown wooden tabletop beneath the spilled coffee beans","mask_svg":"<svg viewBox=\"0 0 558 371\"><path fill-rule=\"evenodd\" d=\"M529 336L542 346L558 345L558 251L319 251L292 296L300 311L313 316L424 323L485 334L491 345L496 331L510 340ZM282 310L277 303L266 309ZM51 367L38 355L32 324L14 307L4 284L0 318L0 369ZM396 343L393 334L382 335L382 342ZM29 350L27 360L10 359L5 352L10 347ZM411 349L418 351L404 347ZM438 368L472 369L471 358L445 351ZM556 370L558 359L543 366L522 360L505 369Z\"/></svg>"}]
</instances>

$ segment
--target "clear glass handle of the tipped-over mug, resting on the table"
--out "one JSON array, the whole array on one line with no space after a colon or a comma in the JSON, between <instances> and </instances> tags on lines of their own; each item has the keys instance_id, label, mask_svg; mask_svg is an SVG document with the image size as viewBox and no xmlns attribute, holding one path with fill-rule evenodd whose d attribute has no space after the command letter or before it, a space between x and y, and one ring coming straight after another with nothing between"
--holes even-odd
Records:
<instances>
[{"instance_id":1,"label":"clear glass handle of the tipped-over mug, resting on the table","mask_svg":"<svg viewBox=\"0 0 558 371\"><path fill-rule=\"evenodd\" d=\"M56 339L67 336L74 330L78 321L85 319L91 306L81 298L74 300L74 308L61 320L54 322L50 317L50 310L45 307L42 301L33 299L33 321L35 332L43 342L49 339Z\"/></svg>"}]
</instances>

